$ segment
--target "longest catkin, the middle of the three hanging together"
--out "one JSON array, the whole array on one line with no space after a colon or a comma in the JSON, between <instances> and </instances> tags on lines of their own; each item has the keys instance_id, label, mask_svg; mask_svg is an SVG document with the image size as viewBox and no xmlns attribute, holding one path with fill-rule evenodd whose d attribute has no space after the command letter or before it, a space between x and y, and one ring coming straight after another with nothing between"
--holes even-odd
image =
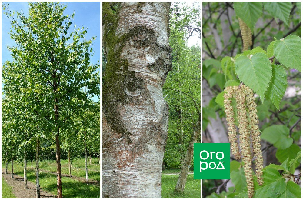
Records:
<instances>
[{"instance_id":1,"label":"longest catkin, the middle of the three hanging together","mask_svg":"<svg viewBox=\"0 0 303 200\"><path fill-rule=\"evenodd\" d=\"M235 91L235 99L237 102L238 121L239 121L239 133L240 133L240 147L242 160L244 162L244 173L247 182L248 197L251 198L254 195L254 182L251 169L251 148L250 148L250 134L248 131L248 120L246 115L245 106L245 94L241 89Z\"/></svg>"}]
</instances>

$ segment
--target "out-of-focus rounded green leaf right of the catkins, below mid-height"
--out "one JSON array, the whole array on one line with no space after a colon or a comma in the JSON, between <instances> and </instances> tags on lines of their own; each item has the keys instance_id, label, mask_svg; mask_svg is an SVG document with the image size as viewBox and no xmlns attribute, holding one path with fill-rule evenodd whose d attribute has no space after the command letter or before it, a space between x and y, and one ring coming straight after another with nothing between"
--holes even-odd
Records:
<instances>
[{"instance_id":1,"label":"out-of-focus rounded green leaf right of the catkins, below mid-height","mask_svg":"<svg viewBox=\"0 0 303 200\"><path fill-rule=\"evenodd\" d=\"M265 128L261 139L270 142L278 149L286 149L294 141L289 137L289 128L285 125L272 125Z\"/></svg>"}]
</instances>

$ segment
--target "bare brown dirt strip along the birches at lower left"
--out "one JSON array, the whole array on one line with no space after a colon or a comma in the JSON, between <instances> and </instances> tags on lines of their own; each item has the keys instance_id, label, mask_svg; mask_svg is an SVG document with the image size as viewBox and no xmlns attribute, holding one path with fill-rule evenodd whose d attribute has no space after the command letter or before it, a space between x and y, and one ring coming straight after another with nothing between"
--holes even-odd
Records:
<instances>
[{"instance_id":1,"label":"bare brown dirt strip along the birches at lower left","mask_svg":"<svg viewBox=\"0 0 303 200\"><path fill-rule=\"evenodd\" d=\"M2 177L5 179L9 186L13 187L12 191L15 197L36 198L36 185L34 185L32 182L28 181L28 189L24 189L23 177L14 175L14 178L11 178L11 174L5 174L5 171L2 171ZM40 198L56 198L56 196L40 189Z\"/></svg>"}]
</instances>

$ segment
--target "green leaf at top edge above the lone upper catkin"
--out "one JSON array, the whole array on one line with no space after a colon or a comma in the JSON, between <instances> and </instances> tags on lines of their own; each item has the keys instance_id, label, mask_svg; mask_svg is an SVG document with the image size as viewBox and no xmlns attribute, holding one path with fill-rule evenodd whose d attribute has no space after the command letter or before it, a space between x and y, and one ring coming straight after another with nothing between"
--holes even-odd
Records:
<instances>
[{"instance_id":1,"label":"green leaf at top edge above the lone upper catkin","mask_svg":"<svg viewBox=\"0 0 303 200\"><path fill-rule=\"evenodd\" d=\"M236 15L254 31L258 18L262 15L262 2L234 2Z\"/></svg>"}]
</instances>

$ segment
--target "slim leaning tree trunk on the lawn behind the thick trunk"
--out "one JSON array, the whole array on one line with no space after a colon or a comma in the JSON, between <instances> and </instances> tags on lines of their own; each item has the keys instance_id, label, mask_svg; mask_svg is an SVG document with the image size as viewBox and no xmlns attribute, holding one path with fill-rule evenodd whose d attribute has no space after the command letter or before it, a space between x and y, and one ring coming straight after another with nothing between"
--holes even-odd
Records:
<instances>
[{"instance_id":1,"label":"slim leaning tree trunk on the lawn behind the thick trunk","mask_svg":"<svg viewBox=\"0 0 303 200\"><path fill-rule=\"evenodd\" d=\"M194 154L194 143L197 143L198 136L200 135L200 119L193 127L193 133L189 141L189 145L185 154L185 158L181 167L181 172L179 174L178 182L175 188L175 192L183 192L187 181L188 170L191 165L191 159Z\"/></svg>"}]
</instances>

